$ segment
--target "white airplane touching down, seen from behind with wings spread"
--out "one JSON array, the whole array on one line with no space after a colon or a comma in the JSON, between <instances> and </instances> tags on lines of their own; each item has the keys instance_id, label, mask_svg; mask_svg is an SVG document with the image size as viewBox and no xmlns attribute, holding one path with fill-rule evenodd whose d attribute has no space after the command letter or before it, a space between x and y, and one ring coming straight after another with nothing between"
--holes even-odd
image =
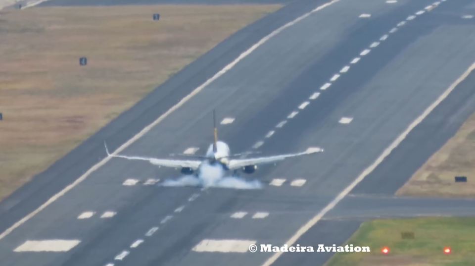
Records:
<instances>
[{"instance_id":1,"label":"white airplane touching down, seen from behind with wings spread","mask_svg":"<svg viewBox=\"0 0 475 266\"><path fill-rule=\"evenodd\" d=\"M231 155L228 144L223 141L218 141L218 130L216 127L216 114L213 110L213 124L214 124L214 141L209 145L208 150L206 151L205 156L194 156L186 155L190 160L175 160L175 159L159 159L159 158L150 158L150 157L140 157L140 156L127 156L127 155L114 155L109 153L107 145L104 142L105 150L107 156L113 158L123 158L127 160L145 160L149 161L151 164L171 167L171 168L181 168L183 174L195 174L199 176L200 169L203 165L220 165L226 171L234 171L236 174L240 169L246 174L251 174L257 169L257 165L265 163L275 163L277 161L285 160L287 158L299 157L305 155L311 155L315 153L321 153L324 149L320 147L310 147L304 152L294 153L294 154L283 154L275 155L269 157L258 157L258 158L244 158L244 159L234 159L239 157L239 154Z\"/></svg>"}]
</instances>

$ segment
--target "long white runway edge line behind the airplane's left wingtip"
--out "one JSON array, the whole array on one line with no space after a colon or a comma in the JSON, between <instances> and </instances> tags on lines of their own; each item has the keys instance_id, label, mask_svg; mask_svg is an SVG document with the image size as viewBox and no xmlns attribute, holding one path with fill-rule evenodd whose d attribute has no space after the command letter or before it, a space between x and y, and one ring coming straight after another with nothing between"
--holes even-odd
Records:
<instances>
[{"instance_id":1,"label":"long white runway edge line behind the airplane's left wingtip","mask_svg":"<svg viewBox=\"0 0 475 266\"><path fill-rule=\"evenodd\" d=\"M252 45L249 49L244 51L243 53L239 54L239 56L234 59L231 63L227 64L223 69L218 71L216 74L214 74L211 78L206 80L203 84L195 88L189 95L185 96L180 102L178 102L176 105L172 106L170 109L168 109L165 113L160 115L155 121L144 127L139 133L137 133L134 137L129 139L127 142L122 144L119 148L117 148L114 152L112 152L112 155L117 155L120 152L124 151L127 147L129 147L132 143L136 142L138 139L140 139L143 135L145 135L148 131L150 131L154 126L156 126L158 123L160 123L163 119L165 119L167 116L169 116L172 112L183 106L186 102L188 102L191 98L193 98L196 94L198 94L200 91L202 91L206 86L211 84L213 81L224 75L226 72L228 72L230 69L232 69L238 62L240 62L242 59L244 59L246 56L254 52L257 48L265 44L267 41L269 41L271 38L274 36L278 35L281 33L283 30L295 25L299 21L307 18L311 14L318 12L336 2L339 2L340 0L331 0L329 2L326 2L322 5L317 6L316 8L310 10L309 12L295 18L292 21L289 21L285 23L283 26L277 28L270 34L266 35L262 39L260 39L257 43ZM74 182L66 186L64 189L53 195L51 198L49 198L44 204L42 204L40 207L35 209L33 212L29 213L28 215L24 216L17 222L15 222L12 226L8 227L5 231L3 231L0 234L0 240L4 238L6 235L11 233L14 229L18 228L20 225L31 219L33 216L35 216L37 213L43 211L47 206L49 206L51 203L55 202L57 199L61 198L66 194L68 191L76 187L78 184L83 182L91 173L93 173L95 170L99 169L102 165L104 165L106 162L108 162L111 159L111 157L106 157L99 162L97 162L93 167L91 167L86 173L81 175L78 179L76 179Z\"/></svg>"}]
</instances>

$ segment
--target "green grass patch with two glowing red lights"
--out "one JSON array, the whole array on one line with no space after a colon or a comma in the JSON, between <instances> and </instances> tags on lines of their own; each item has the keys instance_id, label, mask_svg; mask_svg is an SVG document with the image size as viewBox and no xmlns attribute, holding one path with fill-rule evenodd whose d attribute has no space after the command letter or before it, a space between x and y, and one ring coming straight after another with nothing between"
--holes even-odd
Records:
<instances>
[{"instance_id":1,"label":"green grass patch with two glowing red lights","mask_svg":"<svg viewBox=\"0 0 475 266\"><path fill-rule=\"evenodd\" d=\"M402 239L401 232L414 232ZM327 266L474 266L475 218L411 218L364 222L348 240L371 253L338 253ZM390 253L384 255L381 248ZM443 252L450 247L451 254Z\"/></svg>"}]
</instances>

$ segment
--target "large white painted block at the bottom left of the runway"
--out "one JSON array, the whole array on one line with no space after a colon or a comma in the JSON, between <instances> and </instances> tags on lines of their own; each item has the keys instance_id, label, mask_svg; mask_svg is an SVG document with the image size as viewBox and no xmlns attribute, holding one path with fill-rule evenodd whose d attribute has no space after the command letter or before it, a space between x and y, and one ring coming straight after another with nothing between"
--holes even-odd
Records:
<instances>
[{"instance_id":1,"label":"large white painted block at the bottom left of the runway","mask_svg":"<svg viewBox=\"0 0 475 266\"><path fill-rule=\"evenodd\" d=\"M66 252L76 247L81 240L50 239L50 240L27 240L16 247L14 252Z\"/></svg>"}]
</instances>

